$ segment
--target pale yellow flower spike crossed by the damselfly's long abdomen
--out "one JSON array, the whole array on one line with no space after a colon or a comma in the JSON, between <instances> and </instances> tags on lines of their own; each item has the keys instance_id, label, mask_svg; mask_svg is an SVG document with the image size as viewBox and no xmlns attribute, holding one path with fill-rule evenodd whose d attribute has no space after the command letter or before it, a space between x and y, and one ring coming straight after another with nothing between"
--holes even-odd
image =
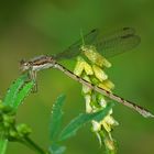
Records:
<instances>
[{"instance_id":1,"label":"pale yellow flower spike crossed by the damselfly's long abdomen","mask_svg":"<svg viewBox=\"0 0 154 154\"><path fill-rule=\"evenodd\" d=\"M77 57L74 73L85 80L111 92L114 85L109 80L108 75L105 73L105 68L111 67L111 63L100 55L95 46L84 45L80 50L86 58L81 56ZM96 112L107 107L107 98L85 85L82 85L82 95L86 100L86 112ZM116 153L116 145L114 140L111 136L111 131L114 125L118 125L118 122L111 114L112 109L102 121L97 122L94 120L91 123L92 132L97 134L100 145L103 142L107 151Z\"/></svg>"}]
</instances>

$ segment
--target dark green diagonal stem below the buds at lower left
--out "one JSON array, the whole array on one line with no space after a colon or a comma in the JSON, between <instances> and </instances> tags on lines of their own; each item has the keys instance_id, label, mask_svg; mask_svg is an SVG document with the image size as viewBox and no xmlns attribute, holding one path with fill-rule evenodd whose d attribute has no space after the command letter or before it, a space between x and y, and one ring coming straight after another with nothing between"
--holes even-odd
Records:
<instances>
[{"instance_id":1,"label":"dark green diagonal stem below the buds at lower left","mask_svg":"<svg viewBox=\"0 0 154 154\"><path fill-rule=\"evenodd\" d=\"M32 141L30 138L24 138L23 141L20 141L22 144L26 145L31 150L37 152L37 154L48 154L48 152L45 152L42 147L40 147L34 141Z\"/></svg>"}]
</instances>

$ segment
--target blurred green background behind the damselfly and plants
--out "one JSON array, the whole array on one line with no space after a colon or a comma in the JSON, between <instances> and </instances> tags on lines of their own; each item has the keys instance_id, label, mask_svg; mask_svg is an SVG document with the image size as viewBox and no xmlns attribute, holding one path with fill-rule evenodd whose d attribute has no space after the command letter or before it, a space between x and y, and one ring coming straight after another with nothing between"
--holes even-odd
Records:
<instances>
[{"instance_id":1,"label":"blurred green background behind the damselfly and plants","mask_svg":"<svg viewBox=\"0 0 154 154\"><path fill-rule=\"evenodd\" d=\"M19 62L65 50L94 28L103 32L133 26L141 44L132 52L110 59L108 70L114 92L154 112L154 1L152 0L0 0L0 97L19 77ZM73 68L75 61L64 61ZM33 128L32 138L44 148L50 144L48 121L52 103L66 94L65 122L85 111L80 85L58 70L38 75L38 92L31 95L18 112L18 121ZM119 154L153 154L154 121L123 106L114 107L120 125L113 132ZM99 154L96 136L86 125L65 143L67 154ZM34 154L23 145L9 143L7 154Z\"/></svg>"}]
</instances>

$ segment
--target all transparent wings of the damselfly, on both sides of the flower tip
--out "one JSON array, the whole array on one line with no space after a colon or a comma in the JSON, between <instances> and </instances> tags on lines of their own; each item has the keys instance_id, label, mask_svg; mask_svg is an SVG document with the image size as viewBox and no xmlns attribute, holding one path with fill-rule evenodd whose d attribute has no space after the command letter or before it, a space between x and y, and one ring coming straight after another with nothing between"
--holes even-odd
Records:
<instances>
[{"instance_id":1,"label":"all transparent wings of the damselfly, on both sides of the flower tip","mask_svg":"<svg viewBox=\"0 0 154 154\"><path fill-rule=\"evenodd\" d=\"M95 45L98 52L105 57L111 57L134 48L141 40L140 36L135 34L134 29L123 28L106 35L101 35L98 30L92 30L84 36L84 41L86 45ZM79 40L64 52L57 54L55 58L76 57L81 52L79 50L81 45L82 41Z\"/></svg>"}]
</instances>

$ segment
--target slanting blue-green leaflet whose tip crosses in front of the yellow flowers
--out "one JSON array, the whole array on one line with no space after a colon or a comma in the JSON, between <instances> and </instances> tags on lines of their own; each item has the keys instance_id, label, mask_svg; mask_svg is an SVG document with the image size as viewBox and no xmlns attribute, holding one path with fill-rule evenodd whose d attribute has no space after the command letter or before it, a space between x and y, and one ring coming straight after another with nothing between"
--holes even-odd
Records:
<instances>
[{"instance_id":1,"label":"slanting blue-green leaflet whose tip crosses in front of the yellow flowers","mask_svg":"<svg viewBox=\"0 0 154 154\"><path fill-rule=\"evenodd\" d=\"M77 131L87 122L90 122L91 120L96 120L96 121L100 121L102 120L108 112L110 111L110 109L113 107L113 103L109 103L107 106L107 108L95 112L95 113L81 113L79 114L77 118L75 118L74 120L70 121L70 123L68 125L66 125L66 128L64 128L64 130L62 131L58 140L63 141L66 140L73 135L75 135L77 133Z\"/></svg>"}]
</instances>

